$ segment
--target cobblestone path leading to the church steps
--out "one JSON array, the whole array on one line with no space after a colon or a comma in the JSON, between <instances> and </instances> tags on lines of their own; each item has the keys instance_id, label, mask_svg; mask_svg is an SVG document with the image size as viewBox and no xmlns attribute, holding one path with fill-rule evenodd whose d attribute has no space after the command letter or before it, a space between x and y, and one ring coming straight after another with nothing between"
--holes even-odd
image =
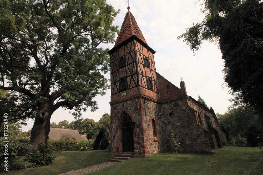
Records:
<instances>
[{"instance_id":1,"label":"cobblestone path leading to the church steps","mask_svg":"<svg viewBox=\"0 0 263 175\"><path fill-rule=\"evenodd\" d=\"M106 167L115 165L117 163L118 162L103 162L98 165L93 165L93 166L82 168L82 169L72 170L67 173L61 173L59 175L82 175L82 174L90 173L90 172L97 171L102 168L106 168Z\"/></svg>"}]
</instances>

